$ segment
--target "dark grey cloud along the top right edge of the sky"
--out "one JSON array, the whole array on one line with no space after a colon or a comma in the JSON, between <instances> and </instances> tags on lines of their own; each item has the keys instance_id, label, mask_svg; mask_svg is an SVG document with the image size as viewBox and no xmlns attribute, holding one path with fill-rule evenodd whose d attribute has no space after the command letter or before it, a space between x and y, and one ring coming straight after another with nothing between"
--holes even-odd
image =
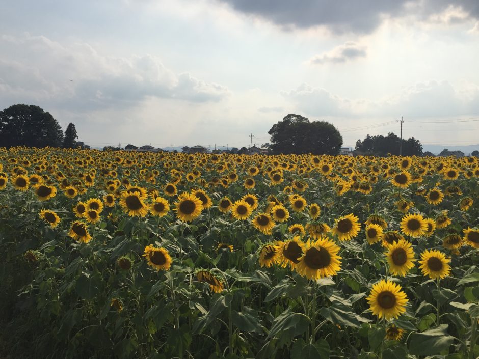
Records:
<instances>
[{"instance_id":1,"label":"dark grey cloud along the top right edge of the sky","mask_svg":"<svg viewBox=\"0 0 479 359\"><path fill-rule=\"evenodd\" d=\"M323 26L333 33L370 33L385 18L414 15L428 18L440 14L451 6L470 18L479 18L477 0L218 0L234 10L270 21L284 30L309 29ZM456 15L450 17L451 20Z\"/></svg>"}]
</instances>

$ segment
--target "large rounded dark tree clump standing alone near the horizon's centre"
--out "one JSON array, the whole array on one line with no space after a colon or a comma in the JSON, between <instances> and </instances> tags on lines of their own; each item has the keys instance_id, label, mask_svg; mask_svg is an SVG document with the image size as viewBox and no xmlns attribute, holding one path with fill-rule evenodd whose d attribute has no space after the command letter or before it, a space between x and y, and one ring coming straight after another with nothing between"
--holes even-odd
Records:
<instances>
[{"instance_id":1,"label":"large rounded dark tree clump standing alone near the horizon's centre","mask_svg":"<svg viewBox=\"0 0 479 359\"><path fill-rule=\"evenodd\" d=\"M342 137L332 124L325 121L309 122L306 117L288 114L268 131L273 154L329 154L336 155L342 146Z\"/></svg>"}]
</instances>

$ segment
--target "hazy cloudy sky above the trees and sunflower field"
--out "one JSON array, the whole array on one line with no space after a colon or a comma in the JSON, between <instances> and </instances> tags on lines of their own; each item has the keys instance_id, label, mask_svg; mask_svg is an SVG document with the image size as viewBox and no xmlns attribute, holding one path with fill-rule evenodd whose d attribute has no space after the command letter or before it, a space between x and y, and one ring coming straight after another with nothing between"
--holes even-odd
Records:
<instances>
[{"instance_id":1,"label":"hazy cloudy sky above the trees and sunflower field","mask_svg":"<svg viewBox=\"0 0 479 359\"><path fill-rule=\"evenodd\" d=\"M0 3L0 109L78 140L249 146L290 113L366 134L478 144L477 0Z\"/></svg>"}]
</instances>

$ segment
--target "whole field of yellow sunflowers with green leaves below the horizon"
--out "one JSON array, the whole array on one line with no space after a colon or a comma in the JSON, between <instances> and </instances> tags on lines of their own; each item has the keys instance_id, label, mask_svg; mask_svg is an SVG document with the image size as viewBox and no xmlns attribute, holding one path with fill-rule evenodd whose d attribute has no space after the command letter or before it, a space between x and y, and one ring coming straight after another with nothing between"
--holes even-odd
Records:
<instances>
[{"instance_id":1,"label":"whole field of yellow sunflowers with green leaves below the horizon","mask_svg":"<svg viewBox=\"0 0 479 359\"><path fill-rule=\"evenodd\" d=\"M0 357L479 357L475 157L0 149Z\"/></svg>"}]
</instances>

